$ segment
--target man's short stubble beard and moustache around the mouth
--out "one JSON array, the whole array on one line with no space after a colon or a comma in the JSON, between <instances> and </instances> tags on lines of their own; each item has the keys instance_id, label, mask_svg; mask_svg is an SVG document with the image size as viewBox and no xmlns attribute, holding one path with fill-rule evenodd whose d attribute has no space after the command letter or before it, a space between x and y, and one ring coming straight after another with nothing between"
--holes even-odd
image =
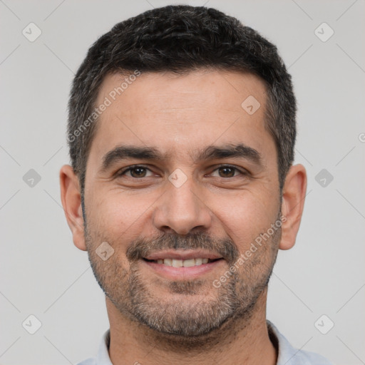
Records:
<instances>
[{"instance_id":1,"label":"man's short stubble beard and moustache around the mouth","mask_svg":"<svg viewBox=\"0 0 365 365\"><path fill-rule=\"evenodd\" d=\"M211 344L216 343L224 331L234 331L233 324L237 321L241 327L245 327L252 314L259 310L256 308L257 301L267 292L267 284L277 257L281 228L219 288L206 279L167 282L152 277L146 282L146 278L141 275L140 262L137 259L140 251L133 251L135 259L129 261L129 267L123 266L123 260L118 257L117 250L107 261L103 261L96 255L95 250L98 247L96 242L105 240L99 240L100 237L96 236L85 227L86 246L93 273L118 312L123 317L152 329L155 336L169 340L172 346L178 343L181 347L185 343L185 347L192 349L197 346L206 348L208 341ZM191 235L189 240L180 236L164 236L153 241L136 240L130 247L142 245L145 250L148 247L171 248L172 245L168 242L172 240L175 248L218 246L227 253L227 247L230 247L230 261L227 262L224 272L227 272L231 264L237 263L240 255L231 240L220 241L215 245L217 241L207 240L205 235ZM109 240L108 243L114 249L118 248L117 242ZM220 272L220 275L224 272ZM151 281L153 284L163 284L163 289L168 289L171 298L154 295ZM202 293L205 295L202 296Z\"/></svg>"}]
</instances>

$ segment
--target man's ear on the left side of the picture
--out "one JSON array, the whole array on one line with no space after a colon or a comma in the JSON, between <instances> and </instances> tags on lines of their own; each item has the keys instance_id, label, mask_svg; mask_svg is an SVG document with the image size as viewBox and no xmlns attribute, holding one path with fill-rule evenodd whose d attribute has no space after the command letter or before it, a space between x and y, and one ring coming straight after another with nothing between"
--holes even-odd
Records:
<instances>
[{"instance_id":1,"label":"man's ear on the left side of the picture","mask_svg":"<svg viewBox=\"0 0 365 365\"><path fill-rule=\"evenodd\" d=\"M81 208L81 190L78 178L70 165L60 170L61 201L68 227L73 235L73 243L78 249L86 251L83 233L83 212Z\"/></svg>"}]
</instances>

